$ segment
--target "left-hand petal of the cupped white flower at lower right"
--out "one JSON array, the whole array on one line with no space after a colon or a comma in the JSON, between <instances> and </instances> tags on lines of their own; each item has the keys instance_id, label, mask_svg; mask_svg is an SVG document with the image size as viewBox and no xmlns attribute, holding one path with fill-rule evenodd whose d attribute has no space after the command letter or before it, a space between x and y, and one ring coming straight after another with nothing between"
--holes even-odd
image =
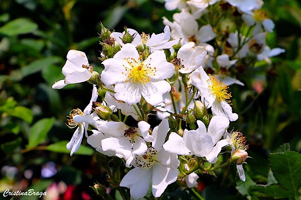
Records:
<instances>
[{"instance_id":1,"label":"left-hand petal of the cupped white flower at lower right","mask_svg":"<svg viewBox=\"0 0 301 200\"><path fill-rule=\"evenodd\" d=\"M163 145L163 148L170 153L191 155L190 150L185 146L184 139L174 132L170 134L169 139Z\"/></svg>"}]
</instances>

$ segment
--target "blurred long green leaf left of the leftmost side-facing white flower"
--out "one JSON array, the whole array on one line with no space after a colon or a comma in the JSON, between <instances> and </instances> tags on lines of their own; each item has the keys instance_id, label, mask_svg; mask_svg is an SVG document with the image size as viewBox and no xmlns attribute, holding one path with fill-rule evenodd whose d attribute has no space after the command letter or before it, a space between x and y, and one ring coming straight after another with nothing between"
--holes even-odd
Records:
<instances>
[{"instance_id":1,"label":"blurred long green leaf left of the leftmost side-facing white flower","mask_svg":"<svg viewBox=\"0 0 301 200\"><path fill-rule=\"evenodd\" d=\"M62 62L63 59L57 56L51 56L48 58L43 58L39 60L35 60L34 62L30 63L29 65L22 67L22 75L28 76L33 73L37 73L44 68L49 67L50 65Z\"/></svg>"}]
</instances>

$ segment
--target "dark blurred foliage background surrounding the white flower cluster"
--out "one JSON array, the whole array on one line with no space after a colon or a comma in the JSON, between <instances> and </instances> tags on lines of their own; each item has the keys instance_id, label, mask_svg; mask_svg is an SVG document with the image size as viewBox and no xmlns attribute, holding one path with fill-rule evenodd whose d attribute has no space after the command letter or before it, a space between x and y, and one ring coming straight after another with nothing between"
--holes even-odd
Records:
<instances>
[{"instance_id":1,"label":"dark blurred foliage background surrounding the white flower cluster","mask_svg":"<svg viewBox=\"0 0 301 200\"><path fill-rule=\"evenodd\" d=\"M273 57L271 65L256 63L250 87L230 88L239 120L229 129L247 136L252 159L244 168L258 184L267 182L268 153L283 143L301 152L301 2L266 0L263 9L275 23L267 44L286 52ZM90 85L60 90L51 85L64 78L61 70L70 49L84 51L101 72L100 22L117 32L127 26L157 34L164 29L162 17L172 20L175 12L166 11L163 0L0 1L0 199L10 199L3 196L8 188L46 190L43 199L97 199L89 186L108 182L94 150L85 139L72 157L65 147L75 131L65 125L66 116L85 108ZM218 178L202 176L198 189L206 199L243 199L235 188L236 173L230 166ZM168 187L163 199L187 199L173 188ZM112 196L118 199L118 194Z\"/></svg>"}]
</instances>

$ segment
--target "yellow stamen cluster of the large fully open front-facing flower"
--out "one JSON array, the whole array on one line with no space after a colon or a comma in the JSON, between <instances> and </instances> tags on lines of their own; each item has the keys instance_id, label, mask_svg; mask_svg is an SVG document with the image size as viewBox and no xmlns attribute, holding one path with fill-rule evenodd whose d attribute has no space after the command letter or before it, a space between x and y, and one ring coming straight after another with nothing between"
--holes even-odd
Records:
<instances>
[{"instance_id":1,"label":"yellow stamen cluster of the large fully open front-facing flower","mask_svg":"<svg viewBox=\"0 0 301 200\"><path fill-rule=\"evenodd\" d=\"M123 65L126 72L122 72L122 74L127 74L125 81L147 83L149 76L154 76L157 72L156 67L151 67L150 63L144 63L141 57L138 60L134 58L124 58L124 60L129 65Z\"/></svg>"}]
</instances>

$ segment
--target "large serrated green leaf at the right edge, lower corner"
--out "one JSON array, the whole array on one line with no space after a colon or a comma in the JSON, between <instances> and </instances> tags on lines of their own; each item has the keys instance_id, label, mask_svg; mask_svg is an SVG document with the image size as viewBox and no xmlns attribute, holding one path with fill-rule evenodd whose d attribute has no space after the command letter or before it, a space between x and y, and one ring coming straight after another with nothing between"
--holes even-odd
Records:
<instances>
[{"instance_id":1,"label":"large serrated green leaf at the right edge, lower corner","mask_svg":"<svg viewBox=\"0 0 301 200\"><path fill-rule=\"evenodd\" d=\"M299 196L301 187L301 154L293 151L271 153L269 155L271 170L278 183Z\"/></svg>"}]
</instances>

